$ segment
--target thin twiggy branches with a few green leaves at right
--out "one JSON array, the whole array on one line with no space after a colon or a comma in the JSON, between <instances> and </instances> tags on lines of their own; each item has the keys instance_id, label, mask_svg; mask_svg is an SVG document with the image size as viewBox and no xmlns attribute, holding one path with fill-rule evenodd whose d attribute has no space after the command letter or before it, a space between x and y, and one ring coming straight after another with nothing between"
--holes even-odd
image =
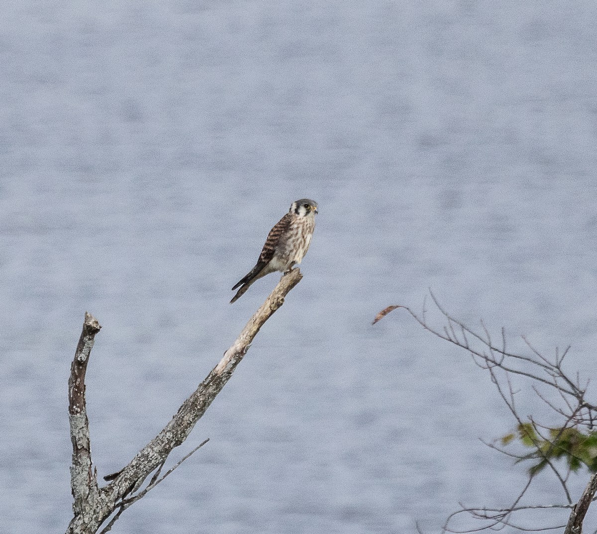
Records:
<instances>
[{"instance_id":1,"label":"thin twiggy branches with a few green leaves at right","mask_svg":"<svg viewBox=\"0 0 597 534\"><path fill-rule=\"evenodd\" d=\"M478 532L479 530L499 530L505 526L521 531L543 531L565 529L564 534L580 534L584 517L597 492L597 449L583 444L597 441L593 427L597 421L597 406L587 400L589 381L582 381L578 374L572 375L564 367L565 358L570 347L560 351L558 348L552 357L546 357L535 348L526 337L522 340L527 347L523 353L511 351L507 346L504 329L494 339L485 324L481 321L478 330L472 329L450 315L431 293L433 304L443 318L444 324L435 327L427 320L425 305L420 313L407 306L388 306L380 311L374 323L395 309L404 309L427 332L439 337L458 348L467 351L475 363L486 370L498 394L516 421L516 434L506 435L496 443L486 443L493 449L511 456L517 462L533 461L528 470L527 482L506 508L473 508L462 505L453 512L444 524L443 532ZM516 404L518 390L513 386L513 378L518 376L530 382L530 387L540 403L551 413L549 423L538 422L533 416L523 417ZM522 445L531 450L530 453L513 453L507 447L518 438ZM584 440L584 441L583 441ZM586 452L589 451L589 452ZM595 452L591 452L595 451ZM565 462L562 468L562 460ZM592 472L586 489L579 498L574 498L570 489L571 472L584 465ZM558 480L564 501L562 504L525 505L523 498L531 487L534 478L542 469L549 469ZM543 525L529 528L516 522L519 512L542 510L564 510L561 524ZM468 515L481 524L472 529L457 529L454 525L461 515ZM568 517L568 520L566 520Z\"/></svg>"}]
</instances>

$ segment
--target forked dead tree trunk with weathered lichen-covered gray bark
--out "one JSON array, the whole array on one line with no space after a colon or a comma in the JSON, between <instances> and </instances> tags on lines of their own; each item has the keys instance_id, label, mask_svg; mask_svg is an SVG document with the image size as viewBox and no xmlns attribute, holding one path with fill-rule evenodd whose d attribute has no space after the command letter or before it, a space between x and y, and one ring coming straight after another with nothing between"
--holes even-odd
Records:
<instances>
[{"instance_id":1,"label":"forked dead tree trunk with weathered lichen-covered gray bark","mask_svg":"<svg viewBox=\"0 0 597 534\"><path fill-rule=\"evenodd\" d=\"M94 534L104 521L118 511L122 512L137 498L134 496L143 481L156 469L161 469L174 447L186 440L195 423L205 413L216 395L224 387L236 366L240 363L263 324L284 303L284 297L302 278L298 269L284 274L259 310L251 317L241 334L224 352L220 363L199 384L187 398L165 428L156 435L131 462L116 474L113 481L104 487L97 484L97 474L92 468L89 425L85 411L85 370L100 325L90 314L85 313L81 339L73 360L69 379L70 435L73 443L71 487L75 502L74 516L67 534ZM156 476L151 485L155 485ZM103 532L109 530L110 523Z\"/></svg>"}]
</instances>

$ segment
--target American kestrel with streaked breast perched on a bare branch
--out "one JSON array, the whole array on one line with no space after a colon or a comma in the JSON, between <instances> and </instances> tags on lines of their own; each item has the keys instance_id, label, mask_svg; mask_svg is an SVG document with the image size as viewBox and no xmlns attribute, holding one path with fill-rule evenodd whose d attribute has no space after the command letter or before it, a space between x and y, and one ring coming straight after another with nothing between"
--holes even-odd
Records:
<instances>
[{"instance_id":1,"label":"American kestrel with streaked breast perched on a bare branch","mask_svg":"<svg viewBox=\"0 0 597 534\"><path fill-rule=\"evenodd\" d=\"M295 263L301 262L313 237L316 213L317 202L309 198L301 198L293 202L290 211L267 235L254 268L232 288L232 290L237 287L240 289L236 291L230 304L236 302L259 278L270 272L290 271Z\"/></svg>"}]
</instances>

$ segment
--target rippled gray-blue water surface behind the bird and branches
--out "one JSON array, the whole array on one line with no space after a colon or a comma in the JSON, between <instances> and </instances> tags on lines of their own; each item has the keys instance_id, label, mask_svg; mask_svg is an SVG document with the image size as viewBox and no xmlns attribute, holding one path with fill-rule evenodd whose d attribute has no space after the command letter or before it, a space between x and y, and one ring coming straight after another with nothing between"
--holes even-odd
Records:
<instances>
[{"instance_id":1,"label":"rippled gray-blue water surface behind the bird and branches","mask_svg":"<svg viewBox=\"0 0 597 534\"><path fill-rule=\"evenodd\" d=\"M320 206L303 281L174 459L210 443L113 532L437 532L458 501L512 501L524 465L477 439L514 425L487 376L405 314L371 320L432 287L594 373L592 2L0 12L1 532L66 529L84 311L101 477L275 285L228 303L300 197ZM562 502L547 475L532 492Z\"/></svg>"}]
</instances>

